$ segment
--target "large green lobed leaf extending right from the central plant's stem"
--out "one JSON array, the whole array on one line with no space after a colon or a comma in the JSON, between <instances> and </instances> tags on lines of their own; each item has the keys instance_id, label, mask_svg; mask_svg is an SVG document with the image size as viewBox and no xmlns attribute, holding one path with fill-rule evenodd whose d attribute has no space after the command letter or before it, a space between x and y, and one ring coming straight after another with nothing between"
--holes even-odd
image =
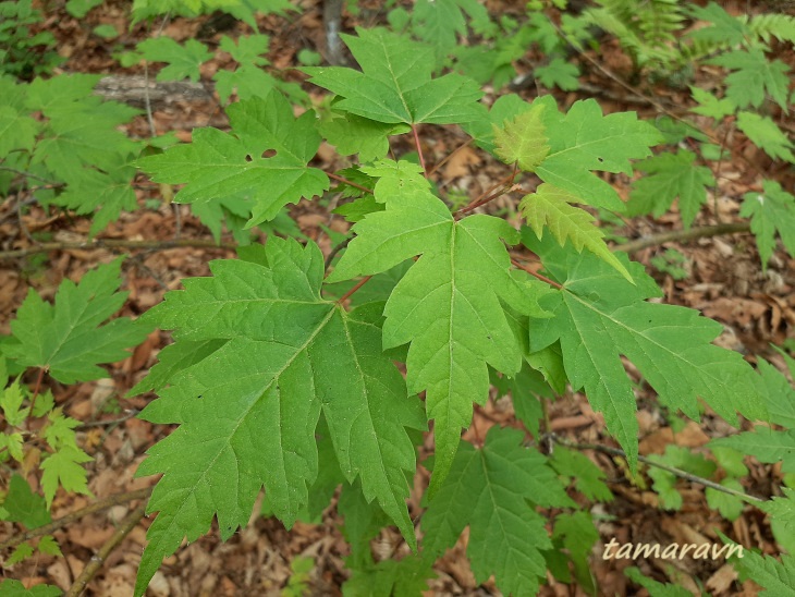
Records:
<instances>
[{"instance_id":1,"label":"large green lobed leaf extending right from the central plant's stem","mask_svg":"<svg viewBox=\"0 0 795 597\"><path fill-rule=\"evenodd\" d=\"M646 302L659 296L659 289L638 264L631 264L633 285L590 254L575 259L571 252L529 234L523 242L541 256L548 276L563 285L541 300L554 317L530 319L530 349L560 341L572 387L584 388L591 405L604 413L631 466L637 462L638 427L635 394L621 355L640 370L663 404L690 418L699 416L698 398L729 422L736 422L737 412L750 419L767 417L750 365L738 353L711 343L722 326L694 309Z\"/></svg>"}]
</instances>

